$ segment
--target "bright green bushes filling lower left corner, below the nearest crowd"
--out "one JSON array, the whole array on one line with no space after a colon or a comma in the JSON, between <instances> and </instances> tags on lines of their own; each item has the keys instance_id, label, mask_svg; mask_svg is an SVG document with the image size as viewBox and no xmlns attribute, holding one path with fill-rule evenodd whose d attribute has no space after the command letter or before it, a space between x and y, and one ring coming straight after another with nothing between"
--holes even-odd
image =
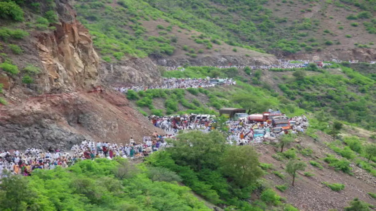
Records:
<instances>
[{"instance_id":1,"label":"bright green bushes filling lower left corner, below the nearest crowd","mask_svg":"<svg viewBox=\"0 0 376 211\"><path fill-rule=\"evenodd\" d=\"M177 181L167 169L133 167L124 159L84 160L68 169L35 170L30 177L3 177L0 209L210 210Z\"/></svg>"}]
</instances>

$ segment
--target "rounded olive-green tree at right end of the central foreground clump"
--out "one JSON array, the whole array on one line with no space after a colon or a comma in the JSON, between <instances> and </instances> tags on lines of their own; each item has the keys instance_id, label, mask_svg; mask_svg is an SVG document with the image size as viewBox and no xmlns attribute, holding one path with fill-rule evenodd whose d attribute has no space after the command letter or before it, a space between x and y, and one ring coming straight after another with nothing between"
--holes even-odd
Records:
<instances>
[{"instance_id":1,"label":"rounded olive-green tree at right end of the central foreground clump","mask_svg":"<svg viewBox=\"0 0 376 211\"><path fill-rule=\"evenodd\" d=\"M231 146L221 160L223 174L240 188L253 184L263 175L258 165L258 154L252 146Z\"/></svg>"}]
</instances>

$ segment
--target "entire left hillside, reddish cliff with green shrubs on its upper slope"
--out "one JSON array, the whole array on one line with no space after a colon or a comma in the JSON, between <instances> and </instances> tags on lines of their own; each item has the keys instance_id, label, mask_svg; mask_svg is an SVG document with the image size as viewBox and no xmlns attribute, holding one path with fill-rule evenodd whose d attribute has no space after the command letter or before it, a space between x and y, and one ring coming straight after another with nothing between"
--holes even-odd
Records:
<instances>
[{"instance_id":1,"label":"entire left hillside, reddish cliff with green shrubs on its upper slope","mask_svg":"<svg viewBox=\"0 0 376 211\"><path fill-rule=\"evenodd\" d=\"M68 149L85 139L140 141L155 131L123 95L100 86L115 74L100 69L91 36L67 1L0 3L2 11L11 8L0 23L2 148ZM143 65L132 72L127 60L109 69L125 71L123 80L158 83L157 66L150 59Z\"/></svg>"}]
</instances>

